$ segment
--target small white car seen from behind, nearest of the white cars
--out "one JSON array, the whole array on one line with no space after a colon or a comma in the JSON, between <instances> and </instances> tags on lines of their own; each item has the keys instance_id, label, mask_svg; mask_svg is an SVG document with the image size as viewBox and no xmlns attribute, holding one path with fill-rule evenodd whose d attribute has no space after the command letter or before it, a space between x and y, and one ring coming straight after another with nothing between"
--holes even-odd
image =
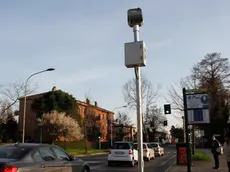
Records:
<instances>
[{"instance_id":1,"label":"small white car seen from behind, nearest of the white cars","mask_svg":"<svg viewBox=\"0 0 230 172\"><path fill-rule=\"evenodd\" d=\"M113 144L108 155L108 165L116 163L128 163L134 167L138 161L138 152L134 149L133 144L127 141L119 141Z\"/></svg>"}]
</instances>

